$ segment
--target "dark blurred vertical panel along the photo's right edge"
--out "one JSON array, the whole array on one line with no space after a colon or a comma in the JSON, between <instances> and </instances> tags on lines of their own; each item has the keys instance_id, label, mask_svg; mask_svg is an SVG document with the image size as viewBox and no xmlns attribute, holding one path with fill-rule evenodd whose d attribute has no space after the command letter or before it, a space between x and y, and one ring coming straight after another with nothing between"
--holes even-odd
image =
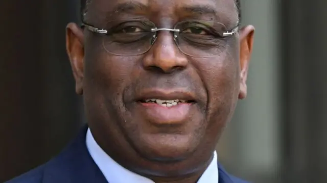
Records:
<instances>
[{"instance_id":1,"label":"dark blurred vertical panel along the photo's right edge","mask_svg":"<svg viewBox=\"0 0 327 183\"><path fill-rule=\"evenodd\" d=\"M327 182L327 1L284 2L285 182Z\"/></svg>"}]
</instances>

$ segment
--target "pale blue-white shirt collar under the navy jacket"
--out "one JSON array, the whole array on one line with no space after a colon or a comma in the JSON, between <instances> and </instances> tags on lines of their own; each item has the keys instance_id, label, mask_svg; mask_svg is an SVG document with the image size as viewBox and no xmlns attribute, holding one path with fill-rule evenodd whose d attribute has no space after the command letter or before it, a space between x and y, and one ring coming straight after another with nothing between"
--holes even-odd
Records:
<instances>
[{"instance_id":1,"label":"pale blue-white shirt collar under the navy jacket","mask_svg":"<svg viewBox=\"0 0 327 183\"><path fill-rule=\"evenodd\" d=\"M127 170L123 166L116 163L110 156L102 150L102 148L95 141L90 129L86 133L87 149L98 165L99 169L109 183L154 183L149 178L138 175L132 171ZM218 165L217 152L214 152L214 158L204 171L197 183L218 183Z\"/></svg>"}]
</instances>

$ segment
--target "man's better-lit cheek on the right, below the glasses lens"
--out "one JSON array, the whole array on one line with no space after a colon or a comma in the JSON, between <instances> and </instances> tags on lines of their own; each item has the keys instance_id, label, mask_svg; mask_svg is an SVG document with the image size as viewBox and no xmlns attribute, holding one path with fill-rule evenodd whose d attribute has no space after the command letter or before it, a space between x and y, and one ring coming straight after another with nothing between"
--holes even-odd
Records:
<instances>
[{"instance_id":1,"label":"man's better-lit cheek on the right, below the glasses lens","mask_svg":"<svg viewBox=\"0 0 327 183\"><path fill-rule=\"evenodd\" d=\"M235 108L239 73L237 58L224 53L216 59L203 60L199 66L207 91L207 121L224 126Z\"/></svg>"}]
</instances>

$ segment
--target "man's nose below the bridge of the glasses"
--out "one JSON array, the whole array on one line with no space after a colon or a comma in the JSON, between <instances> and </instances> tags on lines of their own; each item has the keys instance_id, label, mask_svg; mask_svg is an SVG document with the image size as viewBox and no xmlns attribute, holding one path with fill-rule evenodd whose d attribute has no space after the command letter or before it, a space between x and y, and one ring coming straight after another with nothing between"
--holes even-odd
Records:
<instances>
[{"instance_id":1,"label":"man's nose below the bridge of the glasses","mask_svg":"<svg viewBox=\"0 0 327 183\"><path fill-rule=\"evenodd\" d=\"M164 73L182 70L187 65L188 59L179 51L172 33L168 31L158 33L157 39L143 60L146 70L159 70Z\"/></svg>"}]
</instances>

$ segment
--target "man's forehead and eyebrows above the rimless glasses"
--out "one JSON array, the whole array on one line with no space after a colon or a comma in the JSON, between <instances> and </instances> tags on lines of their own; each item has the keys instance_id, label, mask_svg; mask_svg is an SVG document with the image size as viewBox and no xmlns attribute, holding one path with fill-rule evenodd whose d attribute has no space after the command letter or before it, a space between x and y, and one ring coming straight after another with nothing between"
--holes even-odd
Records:
<instances>
[{"instance_id":1,"label":"man's forehead and eyebrows above the rimless glasses","mask_svg":"<svg viewBox=\"0 0 327 183\"><path fill-rule=\"evenodd\" d=\"M151 16L232 23L238 18L235 0L93 0L88 10L87 19L94 21L124 16Z\"/></svg>"}]
</instances>

